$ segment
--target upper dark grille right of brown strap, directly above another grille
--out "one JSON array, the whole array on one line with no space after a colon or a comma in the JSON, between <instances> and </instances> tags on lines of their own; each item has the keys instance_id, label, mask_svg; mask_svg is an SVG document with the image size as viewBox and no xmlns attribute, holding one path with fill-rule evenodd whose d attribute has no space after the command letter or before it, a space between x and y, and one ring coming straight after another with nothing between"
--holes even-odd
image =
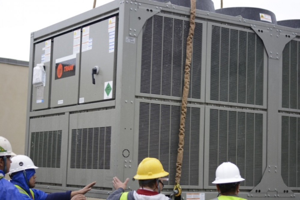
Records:
<instances>
[{"instance_id":1,"label":"upper dark grille right of brown strap, directly above another grille","mask_svg":"<svg viewBox=\"0 0 300 200\"><path fill-rule=\"evenodd\" d=\"M212 26L210 99L263 105L264 51L255 33Z\"/></svg>"}]
</instances>

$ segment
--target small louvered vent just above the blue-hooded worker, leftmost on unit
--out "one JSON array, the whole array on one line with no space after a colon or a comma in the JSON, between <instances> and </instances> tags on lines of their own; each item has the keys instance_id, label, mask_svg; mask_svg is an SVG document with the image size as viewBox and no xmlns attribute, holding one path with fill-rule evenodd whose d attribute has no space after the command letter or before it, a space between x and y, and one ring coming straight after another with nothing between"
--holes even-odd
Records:
<instances>
[{"instance_id":1,"label":"small louvered vent just above the blue-hooded worker, leftmost on unit","mask_svg":"<svg viewBox=\"0 0 300 200\"><path fill-rule=\"evenodd\" d=\"M60 168L62 131L32 132L30 158L38 167Z\"/></svg>"}]
</instances>

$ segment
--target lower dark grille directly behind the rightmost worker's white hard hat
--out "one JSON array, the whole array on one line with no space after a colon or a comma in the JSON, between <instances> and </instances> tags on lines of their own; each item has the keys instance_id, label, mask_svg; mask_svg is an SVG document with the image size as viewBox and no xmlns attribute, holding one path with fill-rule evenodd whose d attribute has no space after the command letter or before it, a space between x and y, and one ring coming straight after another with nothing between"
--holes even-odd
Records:
<instances>
[{"instance_id":1,"label":"lower dark grille directly behind the rightmost worker's white hard hat","mask_svg":"<svg viewBox=\"0 0 300 200\"><path fill-rule=\"evenodd\" d=\"M235 163L245 181L241 186L256 186L262 178L263 115L210 109L209 178L211 184L217 167Z\"/></svg>"}]
</instances>

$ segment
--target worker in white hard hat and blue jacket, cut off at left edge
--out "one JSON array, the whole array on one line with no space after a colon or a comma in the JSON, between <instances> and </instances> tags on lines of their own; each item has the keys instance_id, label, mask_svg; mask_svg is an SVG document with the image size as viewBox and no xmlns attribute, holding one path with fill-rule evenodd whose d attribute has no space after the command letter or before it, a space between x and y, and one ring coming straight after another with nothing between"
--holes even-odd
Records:
<instances>
[{"instance_id":1,"label":"worker in white hard hat and blue jacket, cut off at left edge","mask_svg":"<svg viewBox=\"0 0 300 200\"><path fill-rule=\"evenodd\" d=\"M0 199L22 199L18 189L7 181L4 176L10 170L11 157L15 156L11 149L10 142L0 136Z\"/></svg>"}]
</instances>

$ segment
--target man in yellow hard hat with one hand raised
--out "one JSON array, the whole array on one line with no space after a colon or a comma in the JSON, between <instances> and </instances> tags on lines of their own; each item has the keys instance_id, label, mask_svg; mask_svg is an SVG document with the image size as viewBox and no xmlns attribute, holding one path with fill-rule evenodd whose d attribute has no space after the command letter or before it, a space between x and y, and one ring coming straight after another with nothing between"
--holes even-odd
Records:
<instances>
[{"instance_id":1,"label":"man in yellow hard hat with one hand raised","mask_svg":"<svg viewBox=\"0 0 300 200\"><path fill-rule=\"evenodd\" d=\"M137 191L124 192L129 178L123 183L117 177L113 178L113 186L116 189L107 200L170 200L169 197L161 194L164 187L163 178L169 175L164 171L161 162L156 158L147 157L139 164L134 179L139 180L140 189Z\"/></svg>"}]
</instances>

